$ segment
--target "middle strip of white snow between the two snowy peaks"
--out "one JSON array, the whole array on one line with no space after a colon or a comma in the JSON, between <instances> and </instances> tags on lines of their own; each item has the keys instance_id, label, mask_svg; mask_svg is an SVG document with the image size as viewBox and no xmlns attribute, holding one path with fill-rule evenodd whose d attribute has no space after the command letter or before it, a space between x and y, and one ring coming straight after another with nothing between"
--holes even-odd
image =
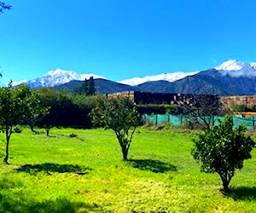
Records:
<instances>
[{"instance_id":1,"label":"middle strip of white snow between the two snowy peaks","mask_svg":"<svg viewBox=\"0 0 256 213\"><path fill-rule=\"evenodd\" d=\"M179 79L185 78L186 76L193 76L198 72L172 72L172 73L162 73L154 76L146 76L143 78L130 78L123 81L119 81L119 83L128 84L131 86L136 86L141 83L150 82L150 81L160 81L165 80L169 82L174 82Z\"/></svg>"}]
</instances>

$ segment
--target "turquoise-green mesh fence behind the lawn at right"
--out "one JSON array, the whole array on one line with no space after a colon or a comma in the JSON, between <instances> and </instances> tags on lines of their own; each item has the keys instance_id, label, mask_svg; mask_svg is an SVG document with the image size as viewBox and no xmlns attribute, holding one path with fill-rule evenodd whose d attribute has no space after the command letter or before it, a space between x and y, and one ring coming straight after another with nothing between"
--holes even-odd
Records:
<instances>
[{"instance_id":1,"label":"turquoise-green mesh fence behind the lawn at right","mask_svg":"<svg viewBox=\"0 0 256 213\"><path fill-rule=\"evenodd\" d=\"M247 127L247 130L256 129L256 118L241 118L237 116L231 116L233 118L234 126L239 126L244 124ZM224 120L224 117L218 116L214 118L214 124L218 125L218 119ZM172 114L155 114L155 115L143 115L143 121L149 122L152 124L171 124L173 126L181 126L186 124L186 119L183 115L172 115Z\"/></svg>"}]
</instances>

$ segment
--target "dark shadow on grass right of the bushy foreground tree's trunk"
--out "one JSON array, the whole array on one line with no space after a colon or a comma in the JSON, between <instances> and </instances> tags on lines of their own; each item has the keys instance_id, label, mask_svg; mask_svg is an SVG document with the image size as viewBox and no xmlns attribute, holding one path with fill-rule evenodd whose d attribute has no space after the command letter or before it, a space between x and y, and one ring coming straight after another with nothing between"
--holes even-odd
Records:
<instances>
[{"instance_id":1,"label":"dark shadow on grass right of the bushy foreground tree's trunk","mask_svg":"<svg viewBox=\"0 0 256 213\"><path fill-rule=\"evenodd\" d=\"M256 187L231 187L230 192L225 194L234 200L256 200Z\"/></svg>"}]
</instances>

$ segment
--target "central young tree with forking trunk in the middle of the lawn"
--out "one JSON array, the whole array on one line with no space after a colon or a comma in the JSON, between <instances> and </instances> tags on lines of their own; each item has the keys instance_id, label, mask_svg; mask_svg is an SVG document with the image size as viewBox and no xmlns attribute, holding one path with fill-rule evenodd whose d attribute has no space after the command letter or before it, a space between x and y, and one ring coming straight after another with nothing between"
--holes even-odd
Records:
<instances>
[{"instance_id":1,"label":"central young tree with forking trunk in the middle of the lawn","mask_svg":"<svg viewBox=\"0 0 256 213\"><path fill-rule=\"evenodd\" d=\"M123 159L127 160L132 136L140 122L140 116L131 100L125 97L100 99L92 109L91 116L93 124L115 132Z\"/></svg>"}]
</instances>

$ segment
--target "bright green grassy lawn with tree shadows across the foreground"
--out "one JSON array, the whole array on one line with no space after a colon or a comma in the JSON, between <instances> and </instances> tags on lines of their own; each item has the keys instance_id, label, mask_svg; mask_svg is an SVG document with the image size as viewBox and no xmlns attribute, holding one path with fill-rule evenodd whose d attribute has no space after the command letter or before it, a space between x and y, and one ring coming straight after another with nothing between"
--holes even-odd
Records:
<instances>
[{"instance_id":1,"label":"bright green grassy lawn with tree shadows across the foreground","mask_svg":"<svg viewBox=\"0 0 256 213\"><path fill-rule=\"evenodd\" d=\"M25 129L0 163L0 212L256 212L256 150L224 196L192 158L192 137L140 128L123 162L111 130Z\"/></svg>"}]
</instances>

